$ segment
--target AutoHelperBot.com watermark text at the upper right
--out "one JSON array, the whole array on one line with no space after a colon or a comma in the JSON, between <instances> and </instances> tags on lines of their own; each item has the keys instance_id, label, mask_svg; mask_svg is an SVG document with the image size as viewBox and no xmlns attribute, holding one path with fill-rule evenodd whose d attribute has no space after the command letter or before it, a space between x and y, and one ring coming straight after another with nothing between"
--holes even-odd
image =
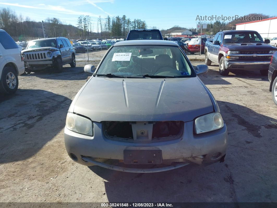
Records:
<instances>
[{"instance_id":1,"label":"AutoHelperBot.com watermark text at the upper right","mask_svg":"<svg viewBox=\"0 0 277 208\"><path fill-rule=\"evenodd\" d=\"M212 15L212 16L199 16L197 15L195 21L259 21L263 20L262 16L239 16L239 15L234 15L234 16L223 16L221 15Z\"/></svg>"}]
</instances>

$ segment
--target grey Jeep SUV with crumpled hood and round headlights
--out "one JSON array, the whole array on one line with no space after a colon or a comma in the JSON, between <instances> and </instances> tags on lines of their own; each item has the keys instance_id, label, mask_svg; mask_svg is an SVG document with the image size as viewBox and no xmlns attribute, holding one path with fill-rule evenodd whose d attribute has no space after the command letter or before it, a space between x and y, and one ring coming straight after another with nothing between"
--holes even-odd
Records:
<instances>
[{"instance_id":1,"label":"grey Jeep SUV with crumpled hood and round headlights","mask_svg":"<svg viewBox=\"0 0 277 208\"><path fill-rule=\"evenodd\" d=\"M65 64L76 66L74 47L65 37L32 40L21 53L26 74L53 67L61 72Z\"/></svg>"}]
</instances>

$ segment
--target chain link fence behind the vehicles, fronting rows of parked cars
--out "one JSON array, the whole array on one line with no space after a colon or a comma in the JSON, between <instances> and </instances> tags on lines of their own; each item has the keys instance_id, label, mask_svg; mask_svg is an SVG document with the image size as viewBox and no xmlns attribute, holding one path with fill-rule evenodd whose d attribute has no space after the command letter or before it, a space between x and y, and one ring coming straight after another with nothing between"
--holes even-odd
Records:
<instances>
[{"instance_id":1,"label":"chain link fence behind the vehicles, fronting rows of parked cars","mask_svg":"<svg viewBox=\"0 0 277 208\"><path fill-rule=\"evenodd\" d=\"M193 44L188 44L192 38L196 37L166 37L168 41L175 41L186 53L190 60L204 60L204 46L206 38L202 38L201 53L200 40ZM23 48L28 42L38 37L12 37L14 41ZM106 54L107 50L116 42L126 40L125 36L93 36L93 37L67 37L75 47L75 57L77 64L87 64L88 62L99 62Z\"/></svg>"}]
</instances>

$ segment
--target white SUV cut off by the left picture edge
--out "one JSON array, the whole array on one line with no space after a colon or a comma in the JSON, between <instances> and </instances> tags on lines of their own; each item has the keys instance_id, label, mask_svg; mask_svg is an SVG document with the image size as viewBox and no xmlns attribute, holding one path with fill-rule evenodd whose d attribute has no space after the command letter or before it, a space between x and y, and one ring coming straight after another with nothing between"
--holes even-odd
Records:
<instances>
[{"instance_id":1,"label":"white SUV cut off by the left picture edge","mask_svg":"<svg viewBox=\"0 0 277 208\"><path fill-rule=\"evenodd\" d=\"M15 93L18 78L25 71L20 49L9 34L0 29L0 93Z\"/></svg>"}]
</instances>

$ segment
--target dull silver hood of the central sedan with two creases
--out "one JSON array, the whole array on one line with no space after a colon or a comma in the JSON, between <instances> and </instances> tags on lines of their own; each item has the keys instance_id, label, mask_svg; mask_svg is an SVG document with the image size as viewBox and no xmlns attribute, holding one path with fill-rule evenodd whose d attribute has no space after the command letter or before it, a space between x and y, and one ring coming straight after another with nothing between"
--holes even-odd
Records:
<instances>
[{"instance_id":1,"label":"dull silver hood of the central sedan with two creases","mask_svg":"<svg viewBox=\"0 0 277 208\"><path fill-rule=\"evenodd\" d=\"M197 77L136 79L92 77L73 112L92 121L192 121L213 112Z\"/></svg>"}]
</instances>

